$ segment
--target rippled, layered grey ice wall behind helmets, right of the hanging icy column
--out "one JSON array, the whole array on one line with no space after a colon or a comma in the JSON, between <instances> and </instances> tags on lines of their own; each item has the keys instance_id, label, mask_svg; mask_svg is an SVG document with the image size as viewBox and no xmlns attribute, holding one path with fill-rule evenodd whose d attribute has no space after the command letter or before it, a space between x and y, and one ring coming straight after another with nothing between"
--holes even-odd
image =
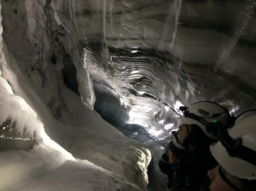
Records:
<instances>
[{"instance_id":1,"label":"rippled, layered grey ice wall behind helmets, right of the hanging icy column","mask_svg":"<svg viewBox=\"0 0 256 191\"><path fill-rule=\"evenodd\" d=\"M161 139L177 127L180 105L213 100L234 113L255 107L255 6L255 0L75 1L95 109L128 136L136 129Z\"/></svg>"}]
</instances>

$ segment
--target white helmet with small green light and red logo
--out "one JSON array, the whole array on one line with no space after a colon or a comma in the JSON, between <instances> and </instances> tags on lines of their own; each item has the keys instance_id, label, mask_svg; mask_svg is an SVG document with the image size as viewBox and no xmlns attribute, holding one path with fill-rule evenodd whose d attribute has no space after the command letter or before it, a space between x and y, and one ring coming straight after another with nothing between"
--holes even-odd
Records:
<instances>
[{"instance_id":1,"label":"white helmet with small green light and red logo","mask_svg":"<svg viewBox=\"0 0 256 191\"><path fill-rule=\"evenodd\" d=\"M213 139L217 139L217 137L212 132L207 132L205 126L216 121L220 121L226 126L231 121L227 108L211 101L199 101L191 104L188 108L180 107L180 110L183 112L181 120L184 124L198 125L208 137Z\"/></svg>"}]
</instances>

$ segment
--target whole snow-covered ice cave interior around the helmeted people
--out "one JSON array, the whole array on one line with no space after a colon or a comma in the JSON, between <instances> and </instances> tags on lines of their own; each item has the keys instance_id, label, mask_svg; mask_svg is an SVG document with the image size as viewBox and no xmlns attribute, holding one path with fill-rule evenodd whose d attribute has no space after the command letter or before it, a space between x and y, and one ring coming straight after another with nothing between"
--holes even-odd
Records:
<instances>
[{"instance_id":1,"label":"whole snow-covered ice cave interior around the helmeted people","mask_svg":"<svg viewBox=\"0 0 256 191\"><path fill-rule=\"evenodd\" d=\"M1 191L167 191L180 106L256 108L256 0L0 8Z\"/></svg>"}]
</instances>

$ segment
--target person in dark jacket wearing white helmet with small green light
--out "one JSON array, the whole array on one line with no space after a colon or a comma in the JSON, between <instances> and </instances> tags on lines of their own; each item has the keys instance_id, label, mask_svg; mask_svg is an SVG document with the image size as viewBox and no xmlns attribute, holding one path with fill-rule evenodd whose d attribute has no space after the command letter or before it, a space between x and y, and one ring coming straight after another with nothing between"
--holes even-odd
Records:
<instances>
[{"instance_id":1,"label":"person in dark jacket wearing white helmet with small green light","mask_svg":"<svg viewBox=\"0 0 256 191\"><path fill-rule=\"evenodd\" d=\"M196 102L180 110L183 124L179 126L178 142L185 148L185 155L180 160L172 190L208 190L207 171L217 166L209 146L217 141L217 137L207 131L206 125L221 121L224 127L228 127L232 117L226 108L211 101Z\"/></svg>"}]
</instances>

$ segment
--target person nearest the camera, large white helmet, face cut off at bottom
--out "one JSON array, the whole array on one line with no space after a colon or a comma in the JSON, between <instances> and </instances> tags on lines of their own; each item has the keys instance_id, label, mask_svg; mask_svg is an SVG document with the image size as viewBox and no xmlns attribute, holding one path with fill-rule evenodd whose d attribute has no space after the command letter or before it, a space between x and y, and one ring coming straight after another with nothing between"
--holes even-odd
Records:
<instances>
[{"instance_id":1,"label":"person nearest the camera, large white helmet, face cut off at bottom","mask_svg":"<svg viewBox=\"0 0 256 191\"><path fill-rule=\"evenodd\" d=\"M223 131L210 146L219 165L208 171L210 191L256 191L256 114Z\"/></svg>"}]
</instances>

